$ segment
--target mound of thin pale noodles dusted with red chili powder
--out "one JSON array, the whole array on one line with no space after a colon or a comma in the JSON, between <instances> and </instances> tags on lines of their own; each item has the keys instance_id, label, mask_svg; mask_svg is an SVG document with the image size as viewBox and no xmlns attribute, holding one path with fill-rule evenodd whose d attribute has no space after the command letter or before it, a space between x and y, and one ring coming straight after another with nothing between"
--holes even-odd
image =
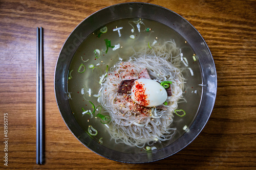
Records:
<instances>
[{"instance_id":1,"label":"mound of thin pale noodles dusted with red chili powder","mask_svg":"<svg viewBox=\"0 0 256 170\"><path fill-rule=\"evenodd\" d=\"M180 49L174 41L166 41L162 45L135 53L128 61L118 61L110 68L103 81L100 102L109 112L111 122L109 133L116 143L144 147L157 141L169 140L175 133L170 128L177 102L182 99L184 78L178 69ZM167 98L167 109L143 107L134 103L130 93L118 93L118 85L122 80L138 79L138 74L147 68L152 80L172 81L172 96Z\"/></svg>"}]
</instances>

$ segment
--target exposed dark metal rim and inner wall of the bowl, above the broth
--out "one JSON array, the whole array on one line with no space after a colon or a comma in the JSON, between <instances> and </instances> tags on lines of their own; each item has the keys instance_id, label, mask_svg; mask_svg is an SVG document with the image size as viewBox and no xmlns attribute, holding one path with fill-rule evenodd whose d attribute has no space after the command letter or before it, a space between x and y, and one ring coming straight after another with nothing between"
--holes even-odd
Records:
<instances>
[{"instance_id":1,"label":"exposed dark metal rim and inner wall of the bowl, above the broth","mask_svg":"<svg viewBox=\"0 0 256 170\"><path fill-rule=\"evenodd\" d=\"M104 147L93 140L77 124L71 114L67 96L69 66L79 45L93 31L103 25L125 18L145 18L160 22L180 34L197 54L202 72L202 96L194 122L180 138L166 147L148 153L123 153ZM171 156L186 147L202 131L214 107L217 92L217 75L209 48L198 31L183 17L166 8L146 3L123 3L104 8L84 19L70 34L60 51L54 76L56 102L66 125L73 135L93 152L120 162L145 163Z\"/></svg>"}]
</instances>

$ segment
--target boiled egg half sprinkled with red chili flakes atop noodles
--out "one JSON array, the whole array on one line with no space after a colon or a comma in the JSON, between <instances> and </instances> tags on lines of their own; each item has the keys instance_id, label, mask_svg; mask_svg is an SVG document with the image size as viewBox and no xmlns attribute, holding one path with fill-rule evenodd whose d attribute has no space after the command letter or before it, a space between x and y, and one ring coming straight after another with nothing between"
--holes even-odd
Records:
<instances>
[{"instance_id":1,"label":"boiled egg half sprinkled with red chili flakes atop noodles","mask_svg":"<svg viewBox=\"0 0 256 170\"><path fill-rule=\"evenodd\" d=\"M167 92L164 87L151 79L135 80L131 95L135 103L146 107L161 105L167 99Z\"/></svg>"}]
</instances>

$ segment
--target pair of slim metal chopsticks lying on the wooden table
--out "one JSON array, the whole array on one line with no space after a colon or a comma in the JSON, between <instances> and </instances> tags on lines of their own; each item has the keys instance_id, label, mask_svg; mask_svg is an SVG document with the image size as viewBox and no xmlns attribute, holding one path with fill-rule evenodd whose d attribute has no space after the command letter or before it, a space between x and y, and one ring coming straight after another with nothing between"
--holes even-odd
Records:
<instances>
[{"instance_id":1,"label":"pair of slim metal chopsticks lying on the wooden table","mask_svg":"<svg viewBox=\"0 0 256 170\"><path fill-rule=\"evenodd\" d=\"M44 163L43 107L42 107L42 58L43 58L42 28L36 28L36 164Z\"/></svg>"}]
</instances>

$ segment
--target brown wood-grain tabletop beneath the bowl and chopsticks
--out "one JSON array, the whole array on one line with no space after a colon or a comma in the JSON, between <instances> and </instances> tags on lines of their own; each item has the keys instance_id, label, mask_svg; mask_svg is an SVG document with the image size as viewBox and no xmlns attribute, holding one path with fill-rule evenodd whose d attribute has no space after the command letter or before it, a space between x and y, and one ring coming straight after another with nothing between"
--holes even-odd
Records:
<instances>
[{"instance_id":1,"label":"brown wood-grain tabletop beneath the bowl and chopsticks","mask_svg":"<svg viewBox=\"0 0 256 170\"><path fill-rule=\"evenodd\" d=\"M255 169L256 1L148 1L175 11L195 26L216 64L214 110L200 135L181 152L153 163L125 164L93 153L68 130L54 95L54 68L61 46L84 18L122 2L127 1L0 2L0 168ZM36 27L44 28L45 165L35 163ZM6 153L8 166L3 161Z\"/></svg>"}]
</instances>

